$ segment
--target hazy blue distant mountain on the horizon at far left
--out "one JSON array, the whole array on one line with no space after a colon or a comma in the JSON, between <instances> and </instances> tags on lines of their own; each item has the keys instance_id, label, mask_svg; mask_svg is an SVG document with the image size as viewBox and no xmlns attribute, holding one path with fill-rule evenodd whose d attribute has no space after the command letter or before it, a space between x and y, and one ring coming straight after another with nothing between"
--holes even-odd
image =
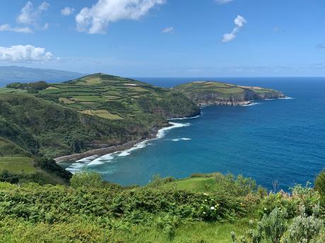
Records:
<instances>
[{"instance_id":1,"label":"hazy blue distant mountain on the horizon at far left","mask_svg":"<svg viewBox=\"0 0 325 243\"><path fill-rule=\"evenodd\" d=\"M32 82L39 80L59 82L73 80L83 75L85 74L54 69L0 66L0 87L11 82Z\"/></svg>"}]
</instances>

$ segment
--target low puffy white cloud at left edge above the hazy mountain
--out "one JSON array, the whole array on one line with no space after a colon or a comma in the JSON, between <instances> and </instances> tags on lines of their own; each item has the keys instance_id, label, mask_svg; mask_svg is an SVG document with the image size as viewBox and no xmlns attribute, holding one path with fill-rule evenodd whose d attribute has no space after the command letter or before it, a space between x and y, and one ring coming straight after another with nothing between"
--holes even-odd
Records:
<instances>
[{"instance_id":1,"label":"low puffy white cloud at left edge above the hazy mountain","mask_svg":"<svg viewBox=\"0 0 325 243\"><path fill-rule=\"evenodd\" d=\"M43 47L35 46L0 46L0 61L7 62L34 62L52 61L54 57L51 52L45 51Z\"/></svg>"}]
</instances>

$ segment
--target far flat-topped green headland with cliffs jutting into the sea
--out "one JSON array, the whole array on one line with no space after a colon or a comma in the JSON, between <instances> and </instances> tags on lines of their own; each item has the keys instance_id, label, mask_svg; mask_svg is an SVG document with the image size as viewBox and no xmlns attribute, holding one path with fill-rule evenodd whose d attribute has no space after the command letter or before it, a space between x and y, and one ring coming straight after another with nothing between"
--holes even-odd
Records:
<instances>
[{"instance_id":1,"label":"far flat-topped green headland with cliffs jutting into the sea","mask_svg":"<svg viewBox=\"0 0 325 243\"><path fill-rule=\"evenodd\" d=\"M276 99L284 97L282 92L261 87L248 87L223 82L196 81L175 87L196 104L236 105L254 99Z\"/></svg>"}]
</instances>

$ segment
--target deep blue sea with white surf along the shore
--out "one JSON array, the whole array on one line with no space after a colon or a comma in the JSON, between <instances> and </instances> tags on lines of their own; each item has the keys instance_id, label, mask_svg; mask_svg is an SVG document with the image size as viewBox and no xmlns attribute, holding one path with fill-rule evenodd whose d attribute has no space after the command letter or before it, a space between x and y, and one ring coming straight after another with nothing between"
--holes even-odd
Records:
<instances>
[{"instance_id":1,"label":"deep blue sea with white surf along the shore","mask_svg":"<svg viewBox=\"0 0 325 243\"><path fill-rule=\"evenodd\" d=\"M271 87L293 99L254 106L210 106L199 118L171 120L175 128L134 149L61 163L71 171L98 170L105 180L144 185L153 175L242 174L268 189L313 182L325 168L325 78L137 78L160 87L193 80Z\"/></svg>"}]
</instances>

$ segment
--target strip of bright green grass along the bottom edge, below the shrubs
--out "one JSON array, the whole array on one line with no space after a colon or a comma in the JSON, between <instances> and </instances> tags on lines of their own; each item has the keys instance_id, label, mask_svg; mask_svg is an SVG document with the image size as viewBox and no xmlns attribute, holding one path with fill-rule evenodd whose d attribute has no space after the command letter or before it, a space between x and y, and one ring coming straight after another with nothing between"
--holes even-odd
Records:
<instances>
[{"instance_id":1,"label":"strip of bright green grass along the bottom edge, below the shrubs","mask_svg":"<svg viewBox=\"0 0 325 243\"><path fill-rule=\"evenodd\" d=\"M77 220L73 223L30 223L25 220L0 221L0 242L96 242L96 243L231 243L230 232L244 235L242 223L182 223L170 239L166 232L151 227L131 225L128 229L104 229L96 223Z\"/></svg>"}]
</instances>

